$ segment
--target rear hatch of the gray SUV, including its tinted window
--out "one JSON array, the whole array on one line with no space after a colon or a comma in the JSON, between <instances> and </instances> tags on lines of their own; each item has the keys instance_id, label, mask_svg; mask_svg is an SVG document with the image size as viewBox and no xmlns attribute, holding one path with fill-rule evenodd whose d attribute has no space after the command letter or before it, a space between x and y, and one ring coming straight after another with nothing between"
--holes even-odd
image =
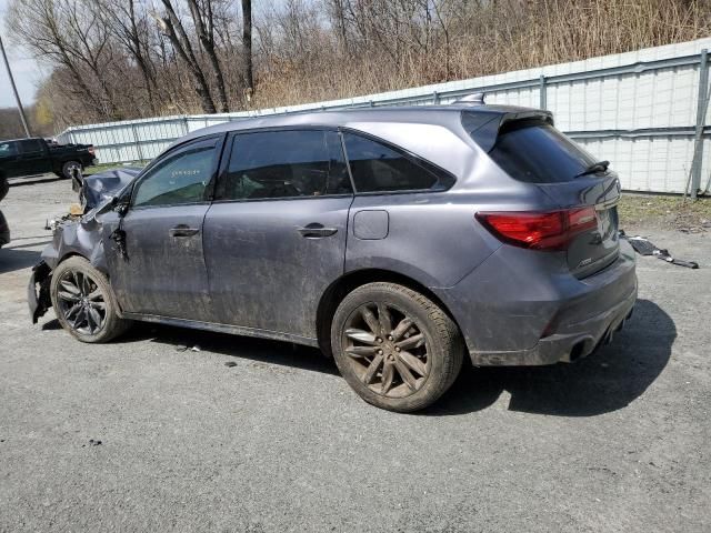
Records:
<instances>
[{"instance_id":1,"label":"rear hatch of the gray SUV, including its tinted window","mask_svg":"<svg viewBox=\"0 0 711 533\"><path fill-rule=\"evenodd\" d=\"M599 272L618 259L620 182L607 161L595 160L540 118L503 123L489 155L509 175L534 184L561 209L594 208L594 222L567 245L568 266L577 278Z\"/></svg>"}]
</instances>

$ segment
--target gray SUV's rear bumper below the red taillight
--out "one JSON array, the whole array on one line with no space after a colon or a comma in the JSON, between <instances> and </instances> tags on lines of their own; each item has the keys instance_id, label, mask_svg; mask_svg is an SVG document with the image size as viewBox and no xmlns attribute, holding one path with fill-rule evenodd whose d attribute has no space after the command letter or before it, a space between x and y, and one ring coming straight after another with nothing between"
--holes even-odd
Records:
<instances>
[{"instance_id":1,"label":"gray SUV's rear bumper below the red taillight","mask_svg":"<svg viewBox=\"0 0 711 533\"><path fill-rule=\"evenodd\" d=\"M583 280L554 253L501 247L453 288L435 290L474 365L542 365L592 353L624 325L637 300L634 251Z\"/></svg>"}]
</instances>

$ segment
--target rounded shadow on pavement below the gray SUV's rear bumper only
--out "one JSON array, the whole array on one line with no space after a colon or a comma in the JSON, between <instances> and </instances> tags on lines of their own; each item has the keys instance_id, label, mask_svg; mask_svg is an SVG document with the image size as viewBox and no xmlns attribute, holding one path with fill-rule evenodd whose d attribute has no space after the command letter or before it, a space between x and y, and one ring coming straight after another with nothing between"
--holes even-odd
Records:
<instances>
[{"instance_id":1,"label":"rounded shadow on pavement below the gray SUV's rear bumper only","mask_svg":"<svg viewBox=\"0 0 711 533\"><path fill-rule=\"evenodd\" d=\"M503 391L509 409L555 416L595 416L641 396L671 356L677 328L659 305L638 300L634 315L611 344L574 364L530 368L467 368L457 383L423 414L479 411Z\"/></svg>"}]
</instances>

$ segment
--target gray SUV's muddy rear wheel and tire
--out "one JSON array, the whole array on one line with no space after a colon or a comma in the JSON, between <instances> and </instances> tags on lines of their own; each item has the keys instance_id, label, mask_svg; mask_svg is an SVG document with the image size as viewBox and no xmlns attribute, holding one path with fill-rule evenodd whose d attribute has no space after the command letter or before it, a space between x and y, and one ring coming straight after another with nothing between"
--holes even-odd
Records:
<instances>
[{"instance_id":1,"label":"gray SUV's muddy rear wheel and tire","mask_svg":"<svg viewBox=\"0 0 711 533\"><path fill-rule=\"evenodd\" d=\"M341 375L358 395L402 413L444 394L464 352L459 328L439 305L384 282L359 286L343 299L333 315L331 345Z\"/></svg>"}]
</instances>

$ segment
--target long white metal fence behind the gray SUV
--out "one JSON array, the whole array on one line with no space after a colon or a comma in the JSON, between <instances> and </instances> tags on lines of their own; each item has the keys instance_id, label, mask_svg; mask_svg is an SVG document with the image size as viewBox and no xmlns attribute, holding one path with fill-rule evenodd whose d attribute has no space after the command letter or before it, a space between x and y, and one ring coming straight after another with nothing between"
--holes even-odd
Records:
<instances>
[{"instance_id":1,"label":"long white metal fence behind the gray SUV","mask_svg":"<svg viewBox=\"0 0 711 533\"><path fill-rule=\"evenodd\" d=\"M93 143L101 162L152 159L180 137L228 121L313 110L443 104L472 92L488 103L553 111L559 129L612 161L625 190L707 191L711 180L711 39L343 100L221 114L72 127L60 142Z\"/></svg>"}]
</instances>

